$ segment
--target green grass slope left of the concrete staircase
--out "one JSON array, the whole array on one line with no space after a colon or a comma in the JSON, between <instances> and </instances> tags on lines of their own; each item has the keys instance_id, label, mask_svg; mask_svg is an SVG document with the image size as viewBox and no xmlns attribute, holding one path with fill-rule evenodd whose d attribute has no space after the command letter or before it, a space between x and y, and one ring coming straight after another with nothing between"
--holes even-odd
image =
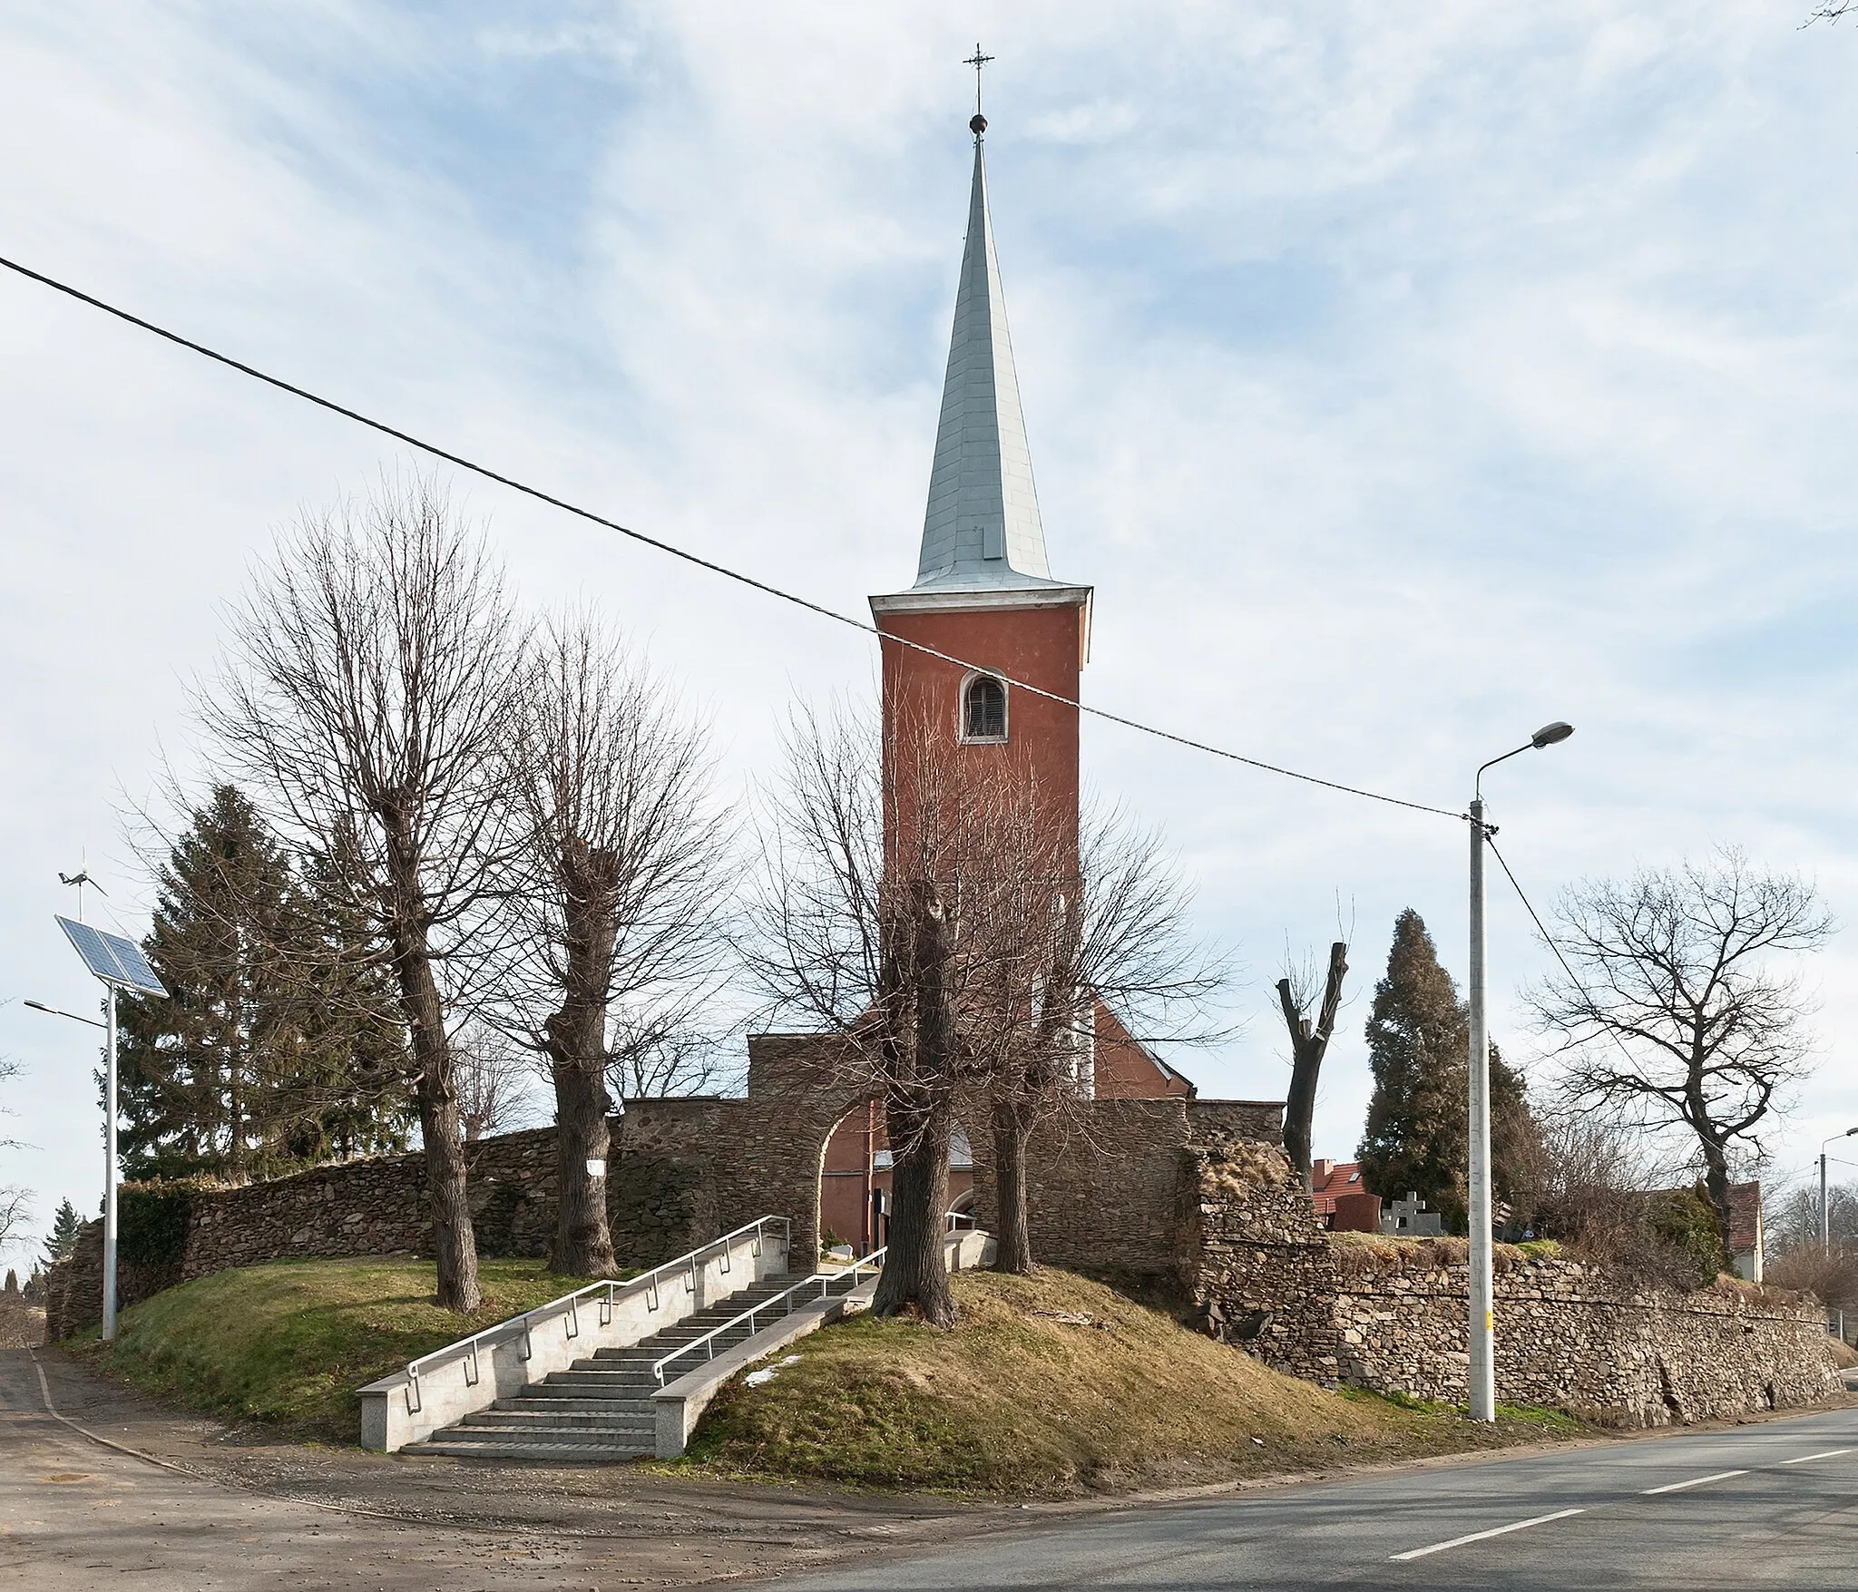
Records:
<instances>
[{"instance_id":1,"label":"green grass slope left of the concrete staircase","mask_svg":"<svg viewBox=\"0 0 1858 1592\"><path fill-rule=\"evenodd\" d=\"M165 1403L264 1421L288 1436L360 1440L364 1382L580 1287L535 1259L479 1261L483 1306L433 1304L431 1261L273 1261L184 1282L123 1313L97 1364Z\"/></svg>"}]
</instances>

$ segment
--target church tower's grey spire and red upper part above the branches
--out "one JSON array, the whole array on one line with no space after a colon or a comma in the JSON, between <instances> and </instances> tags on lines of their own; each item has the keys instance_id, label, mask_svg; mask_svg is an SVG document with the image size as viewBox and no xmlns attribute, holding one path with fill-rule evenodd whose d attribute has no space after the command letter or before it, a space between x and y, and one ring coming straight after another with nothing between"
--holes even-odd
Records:
<instances>
[{"instance_id":1,"label":"church tower's grey spire and red upper part above the branches","mask_svg":"<svg viewBox=\"0 0 1858 1592\"><path fill-rule=\"evenodd\" d=\"M1091 587L1053 580L1046 563L987 206L987 119L977 113L968 126L968 241L916 583L871 598L883 635L884 788L905 788L892 758L922 743L961 775L1037 780L1039 810L1068 858L1059 871L1074 875L1078 710L1068 704L1089 656ZM896 847L912 816L890 808L886 797Z\"/></svg>"}]
</instances>

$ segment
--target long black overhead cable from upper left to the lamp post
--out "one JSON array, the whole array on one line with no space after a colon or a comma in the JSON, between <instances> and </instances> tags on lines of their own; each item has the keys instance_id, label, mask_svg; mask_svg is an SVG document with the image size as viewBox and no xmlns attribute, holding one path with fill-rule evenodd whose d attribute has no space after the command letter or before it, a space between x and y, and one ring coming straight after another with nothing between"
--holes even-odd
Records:
<instances>
[{"instance_id":1,"label":"long black overhead cable from upper left to the lamp post","mask_svg":"<svg viewBox=\"0 0 1858 1592\"><path fill-rule=\"evenodd\" d=\"M622 526L619 524L619 520L609 520L606 515L596 515L593 509L582 509L580 505L570 503L565 498L557 498L552 492L544 492L541 487L530 487L526 481L518 481L513 476L505 476L500 470L492 470L489 464L479 464L474 459L466 459L463 453L453 453L448 448L440 448L435 442L425 442L424 438L414 437L411 431L401 431L396 425L388 425L385 420L373 420L357 409L349 409L342 403L336 403L331 398L323 398L316 392L310 392L305 386L297 386L295 383L284 381L282 377L269 375L268 372L245 364L243 360L232 359L230 355L219 353L217 349L212 349L206 344L195 342L193 338L186 338L180 333L169 331L167 327L160 327L154 321L130 314L124 308L117 308L115 305L106 303L104 299L85 294L82 288L72 288L69 282L59 282L56 277L46 277L43 271L33 271L30 266L22 266L17 260L7 260L6 256L0 256L0 266L20 277L26 277L28 281L52 288L54 292L63 294L65 297L76 299L80 305L89 305L93 310L102 310L106 316L115 316L119 321L128 321L128 325L132 327L139 327L141 331L152 333L154 336L177 344L178 347L190 349L191 353L197 353L203 359L210 359L216 364L223 364L229 370L236 370L240 375L249 375L253 381L262 381L266 386L275 386L279 392L288 392L292 398L301 398L305 403L314 403L318 409L327 409L331 414L340 414L344 420L353 420L357 425L366 425L370 431L379 431L383 437L392 437L396 442L405 442L409 448L418 448L422 453L429 453L433 459L444 459L448 464L457 464L459 470L468 470L474 476L481 476L485 481L496 481L500 487L509 487L509 490L520 492L526 498L533 498L539 503L548 503L552 509L561 509L565 515L574 515L576 518L587 520L589 524L602 526L609 531L617 531L619 535L630 537L632 541L641 542L643 546L654 548L656 552L667 554L674 559L682 559L684 563L695 565L697 568L708 570L710 574L721 576L723 580L732 580L738 585L745 585L751 591L762 593L764 596L777 598L779 602L788 602L793 607L803 607L808 613L819 615L821 619L831 619L834 624L844 624L851 630L864 632L866 635L875 635L881 641L894 641L897 646L907 646L912 652L920 652L927 658L936 658L942 663L953 663L957 669L977 669L981 672L996 674L1000 680L1003 680L1005 684L1013 685L1018 691L1031 691L1035 697L1044 697L1046 700L1057 702L1059 706L1065 708L1076 708L1079 713L1089 713L1093 719L1104 719L1106 723L1111 724L1122 724L1126 730L1135 730L1143 736L1154 736L1156 739L1161 741L1172 741L1176 747L1187 747L1195 752L1206 752L1208 756L1224 758L1226 762L1232 763L1243 763L1249 769L1260 769L1262 773L1267 775L1282 775L1288 780L1301 780L1302 784L1321 786L1323 789L1341 791L1343 795L1364 797L1366 801L1386 803L1388 806L1403 806L1410 808L1412 812L1434 814L1436 817L1453 817L1453 819L1466 817L1466 814L1453 812L1451 808L1427 806L1425 803L1382 795L1380 791L1362 789L1360 786L1341 784L1340 780L1325 780L1319 778L1317 775L1304 775L1299 773L1297 769L1286 769L1280 767L1278 763L1262 762L1260 758L1247 758L1243 752L1230 752L1224 747L1215 747L1210 745L1208 741L1195 741L1189 736L1176 736L1172 730L1161 730L1154 724L1145 724L1139 719L1126 719L1122 713L1111 713L1107 708L1093 708L1085 702L1074 700L1072 697L1063 697L1057 691L1046 691L1042 685L1033 685L1026 680L1014 680L1011 674L1001 674L998 669L990 669L979 663L970 663L966 658L955 658L949 652L938 652L935 646L925 646L920 641L909 641L901 635L890 635L879 630L875 624L868 624L862 619L853 619L849 613L840 613L834 607L827 607L825 604L814 602L812 598L801 596L799 593L786 591L784 587L769 585L764 580L756 580L751 574L734 570L728 565L717 563L715 559L706 559L700 554L687 552L686 548L680 548L674 542L667 542L661 537L652 537L647 535L645 531L634 529L632 526Z\"/></svg>"}]
</instances>

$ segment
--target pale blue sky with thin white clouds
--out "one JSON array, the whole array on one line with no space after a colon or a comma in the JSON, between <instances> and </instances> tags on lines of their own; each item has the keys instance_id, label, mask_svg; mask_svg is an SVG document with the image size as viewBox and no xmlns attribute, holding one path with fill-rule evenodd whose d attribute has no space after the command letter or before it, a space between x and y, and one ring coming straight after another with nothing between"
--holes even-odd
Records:
<instances>
[{"instance_id":1,"label":"pale blue sky with thin white clouds","mask_svg":"<svg viewBox=\"0 0 1858 1592\"><path fill-rule=\"evenodd\" d=\"M847 613L909 583L985 41L988 171L1053 572L1093 702L1457 806L1524 886L1713 843L1817 881L1858 1122L1858 30L1769 4L13 6L0 254ZM405 455L0 281L0 1181L95 1209L80 860L188 765L221 606L301 505ZM855 633L483 483L526 594L596 600L739 789ZM1286 942L1354 925L1317 1115L1347 1155L1394 914L1464 968L1464 827L1087 723L1159 825L1276 1096ZM95 897L91 897L95 907ZM1498 1037L1544 968L1507 894ZM1540 1070L1548 1081L1548 1070ZM1854 1155L1852 1159L1858 1159ZM1852 1176L1851 1172L1847 1176Z\"/></svg>"}]
</instances>

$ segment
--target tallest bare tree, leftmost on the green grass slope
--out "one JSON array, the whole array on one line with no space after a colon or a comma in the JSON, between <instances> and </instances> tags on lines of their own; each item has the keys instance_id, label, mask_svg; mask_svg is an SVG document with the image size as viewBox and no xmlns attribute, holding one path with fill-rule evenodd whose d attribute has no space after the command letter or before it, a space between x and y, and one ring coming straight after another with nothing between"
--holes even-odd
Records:
<instances>
[{"instance_id":1,"label":"tallest bare tree, leftmost on the green grass slope","mask_svg":"<svg viewBox=\"0 0 1858 1592\"><path fill-rule=\"evenodd\" d=\"M520 635L504 576L427 477L307 513L243 604L201 704L273 829L325 860L407 1020L438 1302L479 1302L446 1011L481 966Z\"/></svg>"}]
</instances>

